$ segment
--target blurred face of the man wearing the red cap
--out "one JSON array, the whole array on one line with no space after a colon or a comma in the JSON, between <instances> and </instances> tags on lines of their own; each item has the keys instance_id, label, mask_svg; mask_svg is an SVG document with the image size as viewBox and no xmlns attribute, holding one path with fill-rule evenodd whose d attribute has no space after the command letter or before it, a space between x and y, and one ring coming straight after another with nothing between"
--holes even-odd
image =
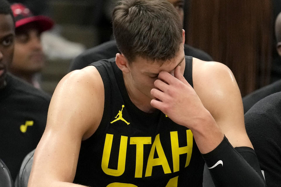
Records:
<instances>
[{"instance_id":1,"label":"blurred face of the man wearing the red cap","mask_svg":"<svg viewBox=\"0 0 281 187\"><path fill-rule=\"evenodd\" d=\"M34 23L16 28L15 51L10 67L12 73L33 74L42 70L45 59L40 35Z\"/></svg>"}]
</instances>

